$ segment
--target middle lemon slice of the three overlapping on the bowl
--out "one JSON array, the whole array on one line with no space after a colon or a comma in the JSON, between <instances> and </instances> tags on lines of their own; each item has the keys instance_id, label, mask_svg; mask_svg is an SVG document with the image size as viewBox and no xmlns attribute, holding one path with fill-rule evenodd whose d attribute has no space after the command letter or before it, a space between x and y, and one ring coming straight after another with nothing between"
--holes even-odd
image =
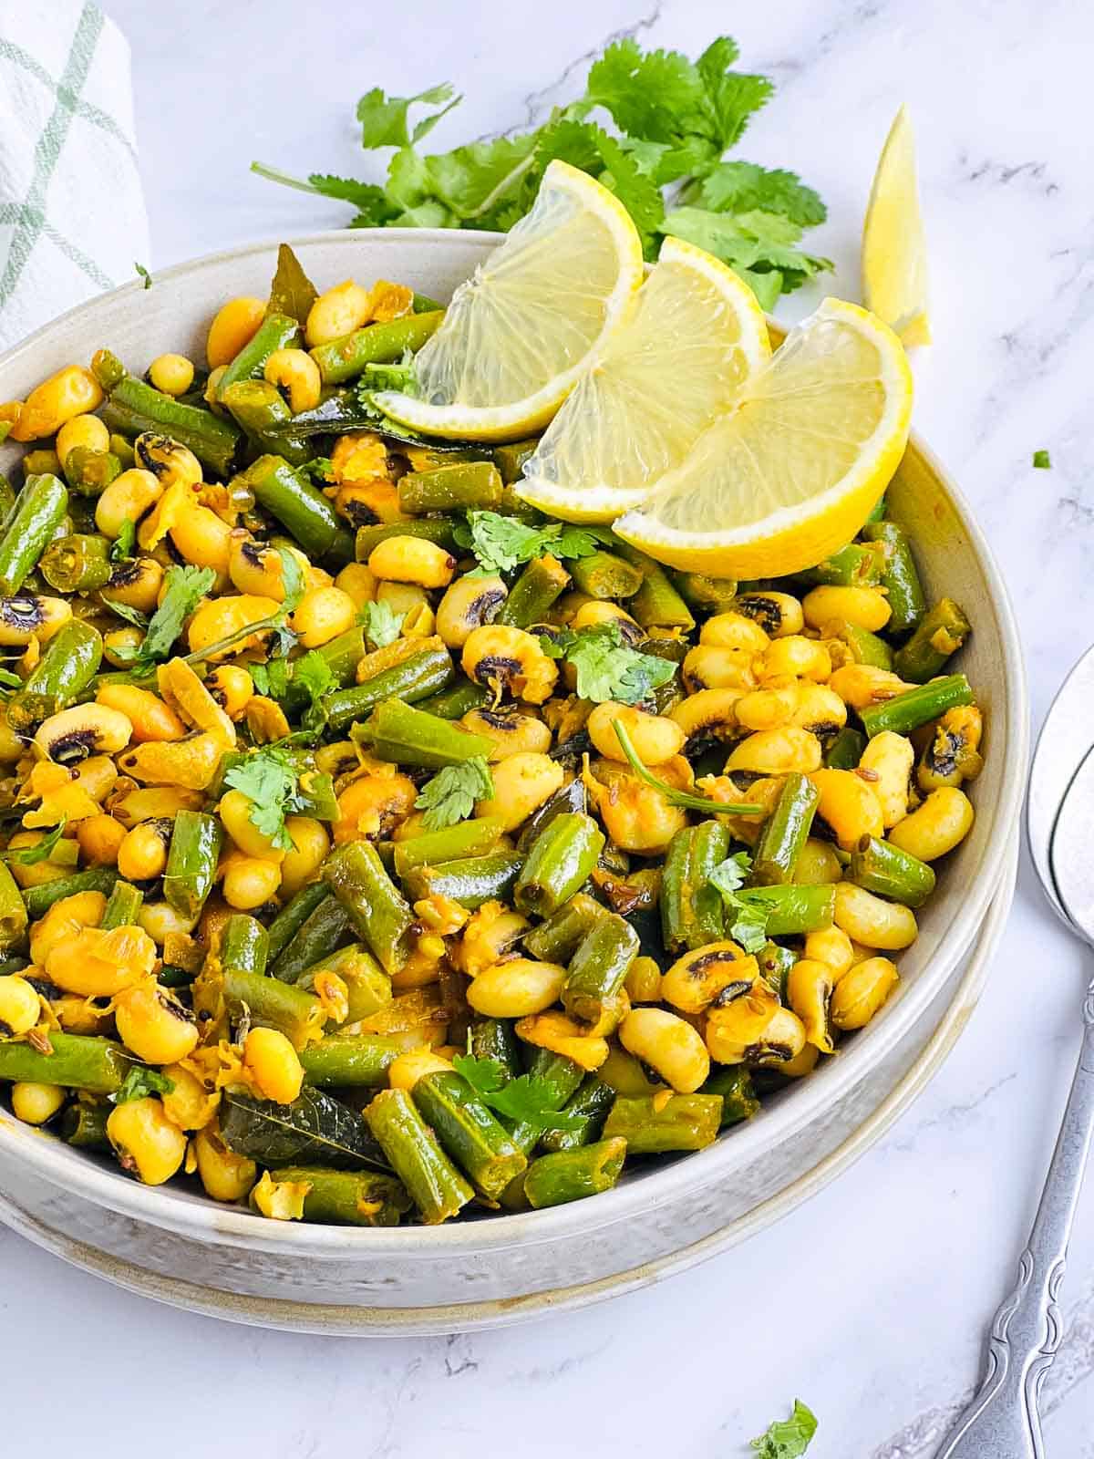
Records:
<instances>
[{"instance_id":1,"label":"middle lemon slice of the three overlapping on the bowl","mask_svg":"<svg viewBox=\"0 0 1094 1459\"><path fill-rule=\"evenodd\" d=\"M516 495L570 522L614 521L684 460L770 353L753 290L694 244L665 239Z\"/></svg>"}]
</instances>

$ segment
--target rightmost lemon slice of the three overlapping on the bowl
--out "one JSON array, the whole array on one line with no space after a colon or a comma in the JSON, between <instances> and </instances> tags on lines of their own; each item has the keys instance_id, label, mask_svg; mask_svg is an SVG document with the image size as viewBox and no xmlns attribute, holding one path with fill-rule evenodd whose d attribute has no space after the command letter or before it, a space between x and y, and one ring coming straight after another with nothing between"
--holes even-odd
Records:
<instances>
[{"instance_id":1,"label":"rightmost lemon slice of the three overlapping on the bowl","mask_svg":"<svg viewBox=\"0 0 1094 1459\"><path fill-rule=\"evenodd\" d=\"M869 516L910 414L900 340L858 305L826 299L614 530L658 562L716 578L801 572Z\"/></svg>"}]
</instances>

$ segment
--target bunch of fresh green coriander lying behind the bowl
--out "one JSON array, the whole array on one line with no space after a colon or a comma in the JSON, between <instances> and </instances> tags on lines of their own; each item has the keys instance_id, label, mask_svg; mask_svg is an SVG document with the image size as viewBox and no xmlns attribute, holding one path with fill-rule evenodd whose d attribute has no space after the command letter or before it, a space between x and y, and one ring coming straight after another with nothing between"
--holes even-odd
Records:
<instances>
[{"instance_id":1,"label":"bunch of fresh green coriander lying behind the bowl","mask_svg":"<svg viewBox=\"0 0 1094 1459\"><path fill-rule=\"evenodd\" d=\"M357 120L366 152L389 149L382 182L321 172L302 179L251 166L274 182L350 203L357 210L350 228L508 232L529 210L547 163L560 158L620 198L648 258L665 235L684 238L729 264L770 308L831 267L799 247L826 209L794 172L725 159L775 93L769 77L732 69L738 54L728 35L694 61L614 41L589 69L583 93L556 107L541 127L451 152L420 150L462 99L451 85L416 96L373 88L357 102ZM419 108L413 123L411 108Z\"/></svg>"}]
</instances>

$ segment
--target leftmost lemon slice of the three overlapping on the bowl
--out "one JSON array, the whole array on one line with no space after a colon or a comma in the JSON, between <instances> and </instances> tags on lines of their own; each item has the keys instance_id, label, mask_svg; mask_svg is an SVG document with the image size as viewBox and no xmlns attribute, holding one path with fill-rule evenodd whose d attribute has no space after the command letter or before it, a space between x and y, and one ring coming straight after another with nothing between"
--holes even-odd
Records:
<instances>
[{"instance_id":1,"label":"leftmost lemon slice of the three overlapping on the bowl","mask_svg":"<svg viewBox=\"0 0 1094 1459\"><path fill-rule=\"evenodd\" d=\"M547 425L642 283L642 241L605 187L551 162L531 213L459 285L414 360L419 395L376 394L414 430L509 441Z\"/></svg>"}]
</instances>

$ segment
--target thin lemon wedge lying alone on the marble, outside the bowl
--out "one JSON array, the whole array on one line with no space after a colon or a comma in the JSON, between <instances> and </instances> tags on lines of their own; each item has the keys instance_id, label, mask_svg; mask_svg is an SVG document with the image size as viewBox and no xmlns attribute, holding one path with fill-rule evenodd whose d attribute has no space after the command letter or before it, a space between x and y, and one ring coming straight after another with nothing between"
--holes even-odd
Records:
<instances>
[{"instance_id":1,"label":"thin lemon wedge lying alone on the marble, outside the bowl","mask_svg":"<svg viewBox=\"0 0 1094 1459\"><path fill-rule=\"evenodd\" d=\"M881 149L862 225L862 298L904 344L929 344L926 241L907 107Z\"/></svg>"}]
</instances>

